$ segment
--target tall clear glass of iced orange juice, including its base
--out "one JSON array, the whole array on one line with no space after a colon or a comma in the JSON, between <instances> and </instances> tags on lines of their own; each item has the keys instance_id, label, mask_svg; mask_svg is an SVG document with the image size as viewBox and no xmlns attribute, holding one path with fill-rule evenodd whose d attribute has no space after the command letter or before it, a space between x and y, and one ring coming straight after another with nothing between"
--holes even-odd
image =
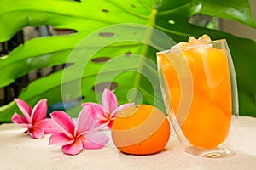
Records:
<instances>
[{"instance_id":1,"label":"tall clear glass of iced orange juice, including its base","mask_svg":"<svg viewBox=\"0 0 256 170\"><path fill-rule=\"evenodd\" d=\"M157 65L166 111L185 150L206 157L233 155L228 139L234 138L230 129L238 118L238 96L227 42L189 37L158 52Z\"/></svg>"}]
</instances>

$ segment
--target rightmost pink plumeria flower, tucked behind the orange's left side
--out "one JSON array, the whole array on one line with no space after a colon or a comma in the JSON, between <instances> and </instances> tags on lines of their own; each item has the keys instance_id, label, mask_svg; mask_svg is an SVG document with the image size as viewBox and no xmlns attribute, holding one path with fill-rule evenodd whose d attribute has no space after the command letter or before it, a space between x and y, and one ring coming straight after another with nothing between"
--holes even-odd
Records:
<instances>
[{"instance_id":1,"label":"rightmost pink plumeria flower, tucked behind the orange's left side","mask_svg":"<svg viewBox=\"0 0 256 170\"><path fill-rule=\"evenodd\" d=\"M115 117L120 111L124 110L125 107L134 105L134 103L128 103L118 106L118 100L111 90L105 88L102 94L102 105L87 102L82 106L90 106L89 113L92 118L101 125L106 125L111 128Z\"/></svg>"}]
</instances>

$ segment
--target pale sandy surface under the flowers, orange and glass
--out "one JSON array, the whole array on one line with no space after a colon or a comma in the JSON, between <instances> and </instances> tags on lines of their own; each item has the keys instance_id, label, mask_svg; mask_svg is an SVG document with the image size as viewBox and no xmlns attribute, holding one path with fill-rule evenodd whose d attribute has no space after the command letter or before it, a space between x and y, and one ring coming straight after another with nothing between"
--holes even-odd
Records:
<instances>
[{"instance_id":1,"label":"pale sandy surface under the flowers, orange and glass","mask_svg":"<svg viewBox=\"0 0 256 170\"><path fill-rule=\"evenodd\" d=\"M203 158L172 147L150 156L125 155L111 142L100 150L83 150L67 156L60 146L49 146L49 135L32 139L13 123L0 125L0 170L58 169L256 169L256 118L241 116L236 153L229 158Z\"/></svg>"}]
</instances>

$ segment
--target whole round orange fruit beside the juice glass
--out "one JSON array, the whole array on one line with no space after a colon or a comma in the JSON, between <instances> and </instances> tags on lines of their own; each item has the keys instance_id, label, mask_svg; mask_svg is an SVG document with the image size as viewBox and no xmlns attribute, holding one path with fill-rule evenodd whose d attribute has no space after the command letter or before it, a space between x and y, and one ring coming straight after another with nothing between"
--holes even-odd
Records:
<instances>
[{"instance_id":1,"label":"whole round orange fruit beside the juice glass","mask_svg":"<svg viewBox=\"0 0 256 170\"><path fill-rule=\"evenodd\" d=\"M154 154L165 148L170 137L170 122L152 105L134 105L115 118L111 135L113 144L126 154Z\"/></svg>"}]
</instances>

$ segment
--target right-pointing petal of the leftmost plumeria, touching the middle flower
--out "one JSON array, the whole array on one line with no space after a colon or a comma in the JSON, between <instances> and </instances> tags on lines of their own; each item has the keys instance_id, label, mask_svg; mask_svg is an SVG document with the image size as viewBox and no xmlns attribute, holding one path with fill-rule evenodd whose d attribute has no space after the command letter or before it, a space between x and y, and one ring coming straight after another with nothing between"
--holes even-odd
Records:
<instances>
[{"instance_id":1,"label":"right-pointing petal of the leftmost plumeria, touching the middle flower","mask_svg":"<svg viewBox=\"0 0 256 170\"><path fill-rule=\"evenodd\" d=\"M34 126L43 128L44 134L55 133L59 131L59 128L56 127L55 122L53 122L52 119L49 118L36 122Z\"/></svg>"}]
</instances>

